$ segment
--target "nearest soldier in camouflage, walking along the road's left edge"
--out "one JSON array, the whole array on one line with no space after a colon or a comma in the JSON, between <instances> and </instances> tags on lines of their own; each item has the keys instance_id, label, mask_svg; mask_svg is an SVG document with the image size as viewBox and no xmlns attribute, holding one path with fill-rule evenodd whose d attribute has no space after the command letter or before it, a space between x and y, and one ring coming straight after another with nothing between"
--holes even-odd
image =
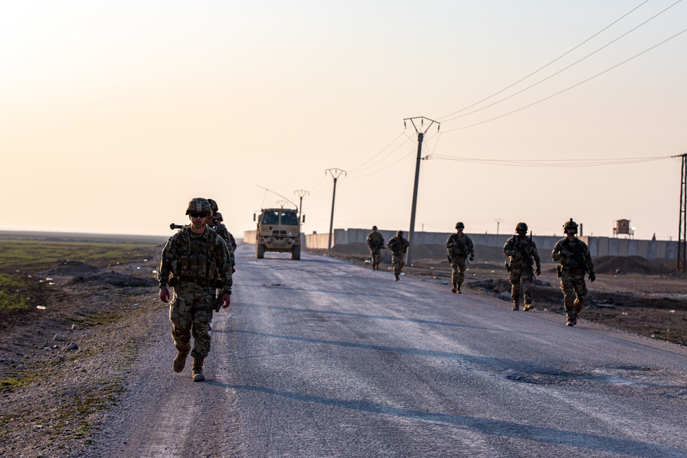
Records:
<instances>
[{"instance_id":1,"label":"nearest soldier in camouflage, walking along the road's left edge","mask_svg":"<svg viewBox=\"0 0 687 458\"><path fill-rule=\"evenodd\" d=\"M186 214L191 224L179 229L167 241L157 279L160 282L160 300L170 304L172 340L177 347L172 367L174 371L181 372L190 352L193 381L201 382L205 380L203 360L210 352L208 330L215 288L221 288L221 306L227 308L232 294L232 271L227 244L207 226L212 215L210 203L196 197L188 203ZM168 285L174 287L172 301Z\"/></svg>"}]
</instances>

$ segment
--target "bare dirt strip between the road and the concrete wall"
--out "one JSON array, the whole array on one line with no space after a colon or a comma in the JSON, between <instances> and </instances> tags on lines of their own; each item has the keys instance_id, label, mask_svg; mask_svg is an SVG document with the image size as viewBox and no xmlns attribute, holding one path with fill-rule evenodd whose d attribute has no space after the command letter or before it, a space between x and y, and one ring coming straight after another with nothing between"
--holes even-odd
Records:
<instances>
[{"instance_id":1,"label":"bare dirt strip between the road and the concrete wall","mask_svg":"<svg viewBox=\"0 0 687 458\"><path fill-rule=\"evenodd\" d=\"M364 243L335 245L331 250L304 249L311 253L337 257L370 267L370 253ZM556 266L549 253L540 253L542 273L532 286L538 310L564 314L563 293ZM447 282L449 293L451 267L442 245L416 245L412 266L405 275L421 275ZM497 247L475 246L475 262L468 266L463 286L479 293L499 297L510 308L510 284L504 268L506 257ZM380 268L391 268L391 254L382 251ZM675 273L675 263L649 261L640 256L604 256L594 260L596 281L587 280L587 304L581 319L622 329L653 339L687 345L687 281ZM565 321L561 317L561 321Z\"/></svg>"}]
</instances>

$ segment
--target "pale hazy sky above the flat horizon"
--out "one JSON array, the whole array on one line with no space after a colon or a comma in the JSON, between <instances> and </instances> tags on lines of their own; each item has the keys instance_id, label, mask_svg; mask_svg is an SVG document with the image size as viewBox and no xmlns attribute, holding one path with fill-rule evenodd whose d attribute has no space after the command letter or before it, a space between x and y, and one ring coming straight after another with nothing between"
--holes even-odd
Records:
<instances>
[{"instance_id":1,"label":"pale hazy sky above the flat horizon","mask_svg":"<svg viewBox=\"0 0 687 458\"><path fill-rule=\"evenodd\" d=\"M687 0L0 1L0 230L171 236L205 197L241 238L302 195L305 233L407 231L419 162L415 231L677 240L686 28Z\"/></svg>"}]
</instances>

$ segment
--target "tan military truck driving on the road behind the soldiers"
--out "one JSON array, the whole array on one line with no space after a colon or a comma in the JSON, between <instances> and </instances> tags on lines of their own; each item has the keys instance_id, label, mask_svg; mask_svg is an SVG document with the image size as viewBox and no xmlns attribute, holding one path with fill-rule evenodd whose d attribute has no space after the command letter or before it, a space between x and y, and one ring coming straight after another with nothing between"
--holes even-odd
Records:
<instances>
[{"instance_id":1,"label":"tan military truck driving on the road behind the soldiers","mask_svg":"<svg viewBox=\"0 0 687 458\"><path fill-rule=\"evenodd\" d=\"M253 214L256 220L256 214ZM300 260L300 220L296 210L265 208L257 218L256 257L262 259L265 251L291 253L292 260ZM303 216L305 222L305 216Z\"/></svg>"}]
</instances>

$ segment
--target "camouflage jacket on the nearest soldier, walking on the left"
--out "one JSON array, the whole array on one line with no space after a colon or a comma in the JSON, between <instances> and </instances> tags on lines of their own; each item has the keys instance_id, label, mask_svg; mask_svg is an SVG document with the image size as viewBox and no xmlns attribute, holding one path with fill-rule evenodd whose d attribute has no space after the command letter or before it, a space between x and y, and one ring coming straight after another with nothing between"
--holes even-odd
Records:
<instances>
[{"instance_id":1,"label":"camouflage jacket on the nearest soldier, walking on the left","mask_svg":"<svg viewBox=\"0 0 687 458\"><path fill-rule=\"evenodd\" d=\"M195 279L196 282L209 283L221 280L222 289L230 292L233 280L229 259L227 244L214 229L205 226L202 234L194 234L185 226L170 237L162 250L162 260L157 269L160 288L167 286L170 275L183 277L181 271L186 260L186 264L196 266L196 271L188 281ZM195 262L188 263L188 260Z\"/></svg>"}]
</instances>

